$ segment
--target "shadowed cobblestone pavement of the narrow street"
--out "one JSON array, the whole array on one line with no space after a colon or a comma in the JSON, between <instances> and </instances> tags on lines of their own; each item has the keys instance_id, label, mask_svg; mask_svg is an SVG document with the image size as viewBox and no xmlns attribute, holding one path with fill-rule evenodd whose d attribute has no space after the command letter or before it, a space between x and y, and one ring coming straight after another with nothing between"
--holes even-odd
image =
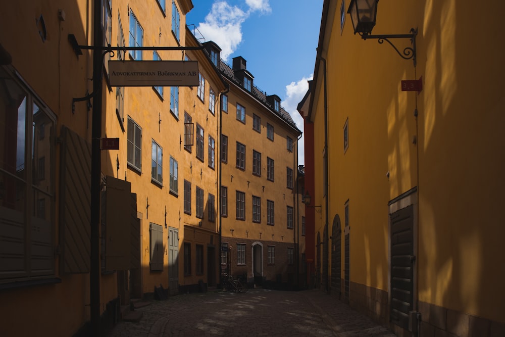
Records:
<instances>
[{"instance_id":1,"label":"shadowed cobblestone pavement of the narrow street","mask_svg":"<svg viewBox=\"0 0 505 337\"><path fill-rule=\"evenodd\" d=\"M140 322L120 322L106 336L394 337L367 316L318 290L212 291L177 295L136 310L143 312Z\"/></svg>"}]
</instances>

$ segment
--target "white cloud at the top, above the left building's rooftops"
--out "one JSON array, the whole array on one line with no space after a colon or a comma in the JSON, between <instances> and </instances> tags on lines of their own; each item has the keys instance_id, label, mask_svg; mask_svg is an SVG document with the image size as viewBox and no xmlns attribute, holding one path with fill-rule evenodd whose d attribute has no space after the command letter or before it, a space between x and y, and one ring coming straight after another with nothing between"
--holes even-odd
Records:
<instances>
[{"instance_id":1,"label":"white cloud at the top, above the left building's rooftops","mask_svg":"<svg viewBox=\"0 0 505 337\"><path fill-rule=\"evenodd\" d=\"M206 41L214 41L221 48L221 58L228 61L242 42L242 23L251 13L270 13L269 0L245 0L247 10L231 6L226 0L216 0L205 22L198 24L198 31Z\"/></svg>"}]
</instances>

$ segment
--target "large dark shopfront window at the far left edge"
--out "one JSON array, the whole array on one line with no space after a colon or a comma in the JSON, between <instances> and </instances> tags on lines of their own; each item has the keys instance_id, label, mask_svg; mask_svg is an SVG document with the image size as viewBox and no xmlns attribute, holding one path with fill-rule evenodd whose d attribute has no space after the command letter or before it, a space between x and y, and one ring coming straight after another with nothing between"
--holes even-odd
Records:
<instances>
[{"instance_id":1,"label":"large dark shopfront window at the far left edge","mask_svg":"<svg viewBox=\"0 0 505 337\"><path fill-rule=\"evenodd\" d=\"M55 276L56 117L14 76L0 66L0 279L17 281Z\"/></svg>"}]
</instances>

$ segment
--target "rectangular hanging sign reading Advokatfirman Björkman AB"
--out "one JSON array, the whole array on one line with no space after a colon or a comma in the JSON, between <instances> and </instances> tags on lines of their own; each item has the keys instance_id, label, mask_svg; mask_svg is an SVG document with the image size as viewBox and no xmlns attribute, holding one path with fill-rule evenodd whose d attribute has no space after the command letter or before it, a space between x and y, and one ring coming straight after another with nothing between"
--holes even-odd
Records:
<instances>
[{"instance_id":1,"label":"rectangular hanging sign reading Advokatfirman Bj\u00f6rkman AB","mask_svg":"<svg viewBox=\"0 0 505 337\"><path fill-rule=\"evenodd\" d=\"M109 61L111 86L198 86L197 61Z\"/></svg>"}]
</instances>

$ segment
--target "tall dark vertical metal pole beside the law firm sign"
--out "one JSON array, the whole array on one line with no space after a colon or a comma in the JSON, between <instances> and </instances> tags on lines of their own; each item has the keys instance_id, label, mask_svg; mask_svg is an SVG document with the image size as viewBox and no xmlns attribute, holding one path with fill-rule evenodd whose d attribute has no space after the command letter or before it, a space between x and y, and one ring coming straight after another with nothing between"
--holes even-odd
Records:
<instances>
[{"instance_id":1,"label":"tall dark vertical metal pole beside the law firm sign","mask_svg":"<svg viewBox=\"0 0 505 337\"><path fill-rule=\"evenodd\" d=\"M93 44L102 45L102 2L93 2ZM93 110L91 115L91 223L90 223L90 313L91 332L98 336L100 331L100 137L102 136L102 67L103 52L93 50Z\"/></svg>"}]
</instances>

